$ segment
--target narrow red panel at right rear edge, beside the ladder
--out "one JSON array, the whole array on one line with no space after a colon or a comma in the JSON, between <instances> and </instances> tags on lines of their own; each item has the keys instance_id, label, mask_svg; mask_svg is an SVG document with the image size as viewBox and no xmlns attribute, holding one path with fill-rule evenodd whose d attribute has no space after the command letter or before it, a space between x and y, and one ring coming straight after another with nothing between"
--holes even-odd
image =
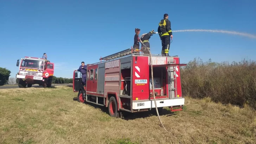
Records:
<instances>
[{"instance_id":1,"label":"narrow red panel at right rear edge, beside the ladder","mask_svg":"<svg viewBox=\"0 0 256 144\"><path fill-rule=\"evenodd\" d=\"M173 59L175 60L176 64L180 63L180 59L178 57L174 57ZM176 80L177 80L177 86L174 83L174 87L177 88L177 97L182 97L181 79L180 79L180 66L174 66L173 68L176 69L176 71L174 71L174 78L176 78ZM176 93L175 93L175 96L176 96Z\"/></svg>"}]
</instances>

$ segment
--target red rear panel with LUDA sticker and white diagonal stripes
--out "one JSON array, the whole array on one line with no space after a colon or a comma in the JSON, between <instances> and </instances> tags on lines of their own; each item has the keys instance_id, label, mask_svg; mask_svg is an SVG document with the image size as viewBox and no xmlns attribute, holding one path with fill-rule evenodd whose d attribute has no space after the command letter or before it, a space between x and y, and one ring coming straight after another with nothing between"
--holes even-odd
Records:
<instances>
[{"instance_id":1,"label":"red rear panel with LUDA sticker and white diagonal stripes","mask_svg":"<svg viewBox=\"0 0 256 144\"><path fill-rule=\"evenodd\" d=\"M137 57L137 58L136 58ZM133 100L149 99L148 57L133 56Z\"/></svg>"}]
</instances>

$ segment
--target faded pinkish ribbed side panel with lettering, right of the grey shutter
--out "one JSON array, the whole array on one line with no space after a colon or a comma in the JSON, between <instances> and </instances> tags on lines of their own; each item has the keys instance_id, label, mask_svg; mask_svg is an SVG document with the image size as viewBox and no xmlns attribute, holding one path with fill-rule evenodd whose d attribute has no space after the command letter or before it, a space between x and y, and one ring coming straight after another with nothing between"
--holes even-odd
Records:
<instances>
[{"instance_id":1,"label":"faded pinkish ribbed side panel with lettering, right of the grey shutter","mask_svg":"<svg viewBox=\"0 0 256 144\"><path fill-rule=\"evenodd\" d=\"M107 93L119 94L120 81L120 59L105 63L105 87L104 97Z\"/></svg>"}]
</instances>

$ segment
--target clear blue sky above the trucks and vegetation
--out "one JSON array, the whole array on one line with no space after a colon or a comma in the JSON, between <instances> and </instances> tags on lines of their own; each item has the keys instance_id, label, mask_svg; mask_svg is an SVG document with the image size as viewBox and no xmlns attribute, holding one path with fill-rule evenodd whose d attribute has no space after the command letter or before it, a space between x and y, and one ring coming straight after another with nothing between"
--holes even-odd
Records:
<instances>
[{"instance_id":1,"label":"clear blue sky above the trucks and vegetation","mask_svg":"<svg viewBox=\"0 0 256 144\"><path fill-rule=\"evenodd\" d=\"M154 29L165 13L172 30L211 29L256 35L256 1L34 1L0 0L0 67L18 72L17 59L42 57L55 63L55 76L72 78L81 61L96 63L133 46L134 29ZM166 7L165 9L162 9ZM151 52L161 53L159 36L150 39ZM256 39L207 32L173 32L169 55L181 63L256 60Z\"/></svg>"}]
</instances>

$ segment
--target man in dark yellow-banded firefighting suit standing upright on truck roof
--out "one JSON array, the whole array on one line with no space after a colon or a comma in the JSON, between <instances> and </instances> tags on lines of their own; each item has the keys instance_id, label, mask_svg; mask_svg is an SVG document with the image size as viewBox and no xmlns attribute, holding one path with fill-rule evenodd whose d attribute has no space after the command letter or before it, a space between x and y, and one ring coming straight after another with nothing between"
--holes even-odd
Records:
<instances>
[{"instance_id":1,"label":"man in dark yellow-banded firefighting suit standing upright on truck roof","mask_svg":"<svg viewBox=\"0 0 256 144\"><path fill-rule=\"evenodd\" d=\"M162 52L165 56L169 56L169 48L172 36L171 21L168 20L168 14L164 14L164 19L159 22L158 34L162 42Z\"/></svg>"}]
</instances>

